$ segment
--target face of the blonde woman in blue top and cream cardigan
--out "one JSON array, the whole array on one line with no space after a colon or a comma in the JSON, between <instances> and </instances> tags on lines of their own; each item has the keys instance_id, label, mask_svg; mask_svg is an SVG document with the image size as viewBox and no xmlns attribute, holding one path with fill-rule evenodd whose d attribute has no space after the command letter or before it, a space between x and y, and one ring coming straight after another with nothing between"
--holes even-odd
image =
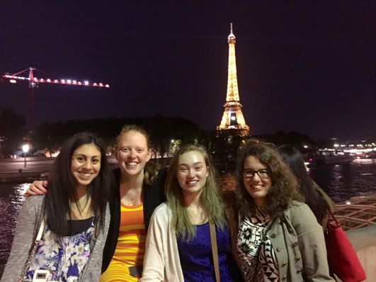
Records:
<instances>
[{"instance_id":1,"label":"face of the blonde woman in blue top and cream cardigan","mask_svg":"<svg viewBox=\"0 0 376 282\"><path fill-rule=\"evenodd\" d=\"M183 195L200 194L209 175L203 154L190 151L181 154L176 171L176 179L183 189Z\"/></svg>"}]
</instances>

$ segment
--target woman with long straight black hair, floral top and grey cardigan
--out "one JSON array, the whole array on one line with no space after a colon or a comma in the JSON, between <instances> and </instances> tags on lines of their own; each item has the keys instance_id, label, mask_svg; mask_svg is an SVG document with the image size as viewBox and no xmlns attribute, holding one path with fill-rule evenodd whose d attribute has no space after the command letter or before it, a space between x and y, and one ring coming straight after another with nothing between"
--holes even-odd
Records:
<instances>
[{"instance_id":1,"label":"woman with long straight black hair, floral top and grey cardigan","mask_svg":"<svg viewBox=\"0 0 376 282\"><path fill-rule=\"evenodd\" d=\"M112 188L98 137L82 132L64 142L47 195L25 200L2 281L98 281Z\"/></svg>"}]
</instances>

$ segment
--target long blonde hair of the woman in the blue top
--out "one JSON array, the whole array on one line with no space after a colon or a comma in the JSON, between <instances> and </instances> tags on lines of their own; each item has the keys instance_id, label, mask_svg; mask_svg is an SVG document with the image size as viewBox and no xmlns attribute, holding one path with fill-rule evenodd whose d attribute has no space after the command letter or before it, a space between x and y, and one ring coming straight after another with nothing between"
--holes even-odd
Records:
<instances>
[{"instance_id":1,"label":"long blonde hair of the woman in the blue top","mask_svg":"<svg viewBox=\"0 0 376 282\"><path fill-rule=\"evenodd\" d=\"M209 219L215 222L215 225L222 229L226 224L224 203L220 196L215 168L209 156L203 146L185 145L181 147L171 159L165 189L167 203L172 211L172 220L176 223L176 235L186 238L188 241L195 237L195 226L190 222L187 210L184 207L183 192L178 183L178 179L176 179L176 172L178 170L180 156L192 151L199 152L203 155L208 172L206 184L205 187L203 187L203 193L200 194L200 205L205 209Z\"/></svg>"}]
</instances>

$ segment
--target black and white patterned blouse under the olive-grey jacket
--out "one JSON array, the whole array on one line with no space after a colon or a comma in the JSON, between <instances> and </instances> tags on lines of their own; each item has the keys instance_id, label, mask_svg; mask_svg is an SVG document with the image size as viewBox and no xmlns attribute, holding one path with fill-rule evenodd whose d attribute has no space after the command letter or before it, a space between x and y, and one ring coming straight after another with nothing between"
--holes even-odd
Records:
<instances>
[{"instance_id":1,"label":"black and white patterned blouse under the olive-grey jacket","mask_svg":"<svg viewBox=\"0 0 376 282\"><path fill-rule=\"evenodd\" d=\"M251 218L245 218L239 227L238 254L245 281L277 282L278 261L270 242L266 214L256 208Z\"/></svg>"}]
</instances>

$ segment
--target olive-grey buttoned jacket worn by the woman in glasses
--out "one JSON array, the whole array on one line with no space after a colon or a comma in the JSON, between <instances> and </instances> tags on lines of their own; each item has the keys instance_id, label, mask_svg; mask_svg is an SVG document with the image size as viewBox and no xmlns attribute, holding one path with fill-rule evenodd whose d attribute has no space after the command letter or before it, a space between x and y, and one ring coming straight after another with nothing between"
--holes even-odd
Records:
<instances>
[{"instance_id":1,"label":"olive-grey buttoned jacket worn by the woman in glasses","mask_svg":"<svg viewBox=\"0 0 376 282\"><path fill-rule=\"evenodd\" d=\"M233 251L237 250L236 222L229 221ZM277 256L281 282L335 281L329 276L324 233L308 205L292 201L283 216L269 224L272 223L268 235ZM239 263L237 251L233 253Z\"/></svg>"}]
</instances>

